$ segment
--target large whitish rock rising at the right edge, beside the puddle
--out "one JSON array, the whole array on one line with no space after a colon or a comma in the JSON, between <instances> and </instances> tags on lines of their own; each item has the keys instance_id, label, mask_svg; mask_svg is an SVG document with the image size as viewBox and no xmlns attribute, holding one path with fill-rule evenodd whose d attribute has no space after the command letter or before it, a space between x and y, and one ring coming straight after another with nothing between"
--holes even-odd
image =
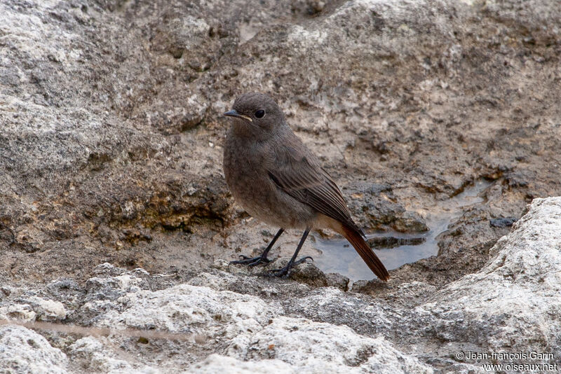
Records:
<instances>
[{"instance_id":1,"label":"large whitish rock rising at the right edge, beside the puddle","mask_svg":"<svg viewBox=\"0 0 561 374\"><path fill-rule=\"evenodd\" d=\"M418 307L434 333L488 352L553 352L561 357L561 198L536 199L489 251L479 271Z\"/></svg>"}]
</instances>

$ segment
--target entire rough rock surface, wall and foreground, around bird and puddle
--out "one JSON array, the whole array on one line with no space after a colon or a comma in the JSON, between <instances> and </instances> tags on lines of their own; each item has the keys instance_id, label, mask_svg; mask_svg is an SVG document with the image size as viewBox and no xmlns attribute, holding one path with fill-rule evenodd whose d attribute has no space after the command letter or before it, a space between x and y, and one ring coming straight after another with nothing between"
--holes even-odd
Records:
<instances>
[{"instance_id":1,"label":"entire rough rock surface, wall and foreground, around bird and puddle","mask_svg":"<svg viewBox=\"0 0 561 374\"><path fill-rule=\"evenodd\" d=\"M559 1L0 0L0 15L0 319L27 323L0 326L8 373L561 357L560 200L536 199L561 195ZM422 232L489 186L389 284L313 264L255 277L227 261L276 228L222 176L221 113L248 90L276 97L367 231Z\"/></svg>"}]
</instances>

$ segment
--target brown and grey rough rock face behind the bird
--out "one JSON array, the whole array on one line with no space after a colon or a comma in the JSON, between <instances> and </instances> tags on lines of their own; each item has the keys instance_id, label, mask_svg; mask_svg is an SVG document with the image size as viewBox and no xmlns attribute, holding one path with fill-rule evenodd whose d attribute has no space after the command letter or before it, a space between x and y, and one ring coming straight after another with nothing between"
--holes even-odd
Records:
<instances>
[{"instance_id":1,"label":"brown and grey rough rock face behind the bird","mask_svg":"<svg viewBox=\"0 0 561 374\"><path fill-rule=\"evenodd\" d=\"M478 270L508 233L489 219L561 191L555 0L0 7L5 279L192 271L262 247L274 228L245 219L221 167L220 113L247 90L278 99L366 230L424 230L437 202L493 181L404 281Z\"/></svg>"}]
</instances>

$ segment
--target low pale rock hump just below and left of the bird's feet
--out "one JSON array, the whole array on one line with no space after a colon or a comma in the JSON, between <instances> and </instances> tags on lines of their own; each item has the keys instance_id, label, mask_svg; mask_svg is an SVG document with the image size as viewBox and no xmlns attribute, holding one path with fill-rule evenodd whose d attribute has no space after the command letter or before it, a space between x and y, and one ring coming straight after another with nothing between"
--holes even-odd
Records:
<instances>
[{"instance_id":1,"label":"low pale rock hump just below and left of the bird's feet","mask_svg":"<svg viewBox=\"0 0 561 374\"><path fill-rule=\"evenodd\" d=\"M227 338L243 331L256 331L278 312L255 296L188 284L127 293L115 303L118 307L102 315L98 326L224 334Z\"/></svg>"}]
</instances>

